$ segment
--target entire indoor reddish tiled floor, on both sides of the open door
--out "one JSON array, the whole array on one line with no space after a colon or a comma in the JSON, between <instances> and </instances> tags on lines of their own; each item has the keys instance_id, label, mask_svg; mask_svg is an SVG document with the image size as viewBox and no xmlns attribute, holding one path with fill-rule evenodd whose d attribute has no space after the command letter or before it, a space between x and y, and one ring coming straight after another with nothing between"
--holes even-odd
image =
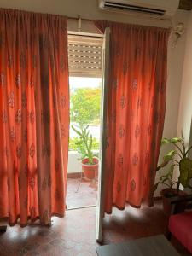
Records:
<instances>
[{"instance_id":1,"label":"entire indoor reddish tiled floor, on both sides of the open door","mask_svg":"<svg viewBox=\"0 0 192 256\"><path fill-rule=\"evenodd\" d=\"M166 225L160 201L151 208L114 209L104 218L104 244L166 234ZM176 240L172 243L182 256L191 255ZM67 211L65 218L53 218L50 228L15 225L0 236L1 256L96 256L96 246L95 207Z\"/></svg>"}]
</instances>

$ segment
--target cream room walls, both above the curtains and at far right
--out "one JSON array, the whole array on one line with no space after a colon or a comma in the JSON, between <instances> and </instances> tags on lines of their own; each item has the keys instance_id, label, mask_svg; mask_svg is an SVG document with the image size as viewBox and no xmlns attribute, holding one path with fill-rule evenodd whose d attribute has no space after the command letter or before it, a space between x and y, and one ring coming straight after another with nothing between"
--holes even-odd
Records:
<instances>
[{"instance_id":1,"label":"cream room walls, both above the curtains and at far right","mask_svg":"<svg viewBox=\"0 0 192 256\"><path fill-rule=\"evenodd\" d=\"M149 18L137 17L136 15L132 16L102 12L97 8L96 0L0 0L0 7L67 15L68 17L77 17L78 15L81 15L83 18L90 20L113 20L119 22L140 24L145 26L171 26L171 22L168 20L154 20ZM177 24L177 22L183 22L184 24L187 24L188 16L188 11L178 10L177 14L173 17L173 22L175 24ZM190 22L191 20L192 19L190 15ZM69 22L68 28L69 30L77 30L77 22L75 20L71 20ZM91 22L88 21L83 22L82 28L84 32L96 32L95 27L91 24ZM190 28L190 34L192 33L191 29L192 28ZM171 44L169 44L166 120L164 128L164 137L173 137L176 136L177 134L178 108L183 74L183 56L185 52L185 37L186 33L183 35L182 38L179 39L175 49L172 49ZM186 53L184 68L184 74L186 73L186 75L183 76L183 84L189 84L188 79L192 79L190 76L189 68L186 67L189 65L189 62L191 61L189 60L189 41L190 40L188 35L188 52ZM183 89L182 94L182 102L185 102L185 100L183 99L186 97L189 99L189 93L186 89ZM183 116L183 108L187 108L187 106L185 106L185 104L182 103L180 106L179 119L181 119L181 124L187 124L185 120L189 120L189 112L185 113ZM189 133L188 131L186 132ZM165 151L162 150L160 155L162 155L164 152ZM159 195L159 190L160 188L158 189L155 195Z\"/></svg>"}]
</instances>

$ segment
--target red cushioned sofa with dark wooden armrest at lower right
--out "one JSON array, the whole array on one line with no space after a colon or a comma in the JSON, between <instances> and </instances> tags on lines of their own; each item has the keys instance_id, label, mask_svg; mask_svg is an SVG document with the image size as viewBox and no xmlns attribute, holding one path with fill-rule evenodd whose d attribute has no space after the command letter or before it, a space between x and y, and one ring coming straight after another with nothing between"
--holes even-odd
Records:
<instances>
[{"instance_id":1,"label":"red cushioned sofa with dark wooden armrest at lower right","mask_svg":"<svg viewBox=\"0 0 192 256\"><path fill-rule=\"evenodd\" d=\"M171 201L173 215L169 218L169 231L192 253L192 211L175 213L177 203L186 201L186 206L192 201L192 195L175 198Z\"/></svg>"}]
</instances>

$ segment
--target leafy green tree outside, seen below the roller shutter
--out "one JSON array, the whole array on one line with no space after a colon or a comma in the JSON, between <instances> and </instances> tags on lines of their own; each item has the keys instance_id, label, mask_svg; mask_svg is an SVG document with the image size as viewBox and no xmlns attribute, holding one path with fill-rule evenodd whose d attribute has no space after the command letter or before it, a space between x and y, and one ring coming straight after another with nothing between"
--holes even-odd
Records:
<instances>
[{"instance_id":1,"label":"leafy green tree outside, seen below the roller shutter","mask_svg":"<svg viewBox=\"0 0 192 256\"><path fill-rule=\"evenodd\" d=\"M71 95L71 122L80 125L99 124L101 88L80 88Z\"/></svg>"}]
</instances>

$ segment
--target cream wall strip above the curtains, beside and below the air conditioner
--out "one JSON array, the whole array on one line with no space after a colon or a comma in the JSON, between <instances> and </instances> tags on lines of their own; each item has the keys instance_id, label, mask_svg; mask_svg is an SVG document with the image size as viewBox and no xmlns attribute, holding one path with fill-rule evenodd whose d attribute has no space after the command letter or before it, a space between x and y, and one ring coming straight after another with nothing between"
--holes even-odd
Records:
<instances>
[{"instance_id":1,"label":"cream wall strip above the curtains, beside and below the air conditioner","mask_svg":"<svg viewBox=\"0 0 192 256\"><path fill-rule=\"evenodd\" d=\"M99 11L97 0L0 0L2 8L24 9L34 12L67 15L86 19L105 19L138 23L147 26L170 26L168 21L141 19L136 15L113 14Z\"/></svg>"}]
</instances>

